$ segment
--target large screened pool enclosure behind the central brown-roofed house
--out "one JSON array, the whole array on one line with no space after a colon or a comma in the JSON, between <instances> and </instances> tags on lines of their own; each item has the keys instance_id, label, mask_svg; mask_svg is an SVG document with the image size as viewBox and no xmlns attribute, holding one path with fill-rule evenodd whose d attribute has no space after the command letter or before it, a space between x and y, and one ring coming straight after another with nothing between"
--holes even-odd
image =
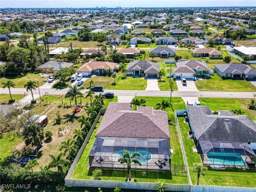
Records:
<instances>
[{"instance_id":1,"label":"large screened pool enclosure behind the central brown-roofed house","mask_svg":"<svg viewBox=\"0 0 256 192\"><path fill-rule=\"evenodd\" d=\"M142 166L132 164L132 169L170 170L171 156L168 139L161 138L129 138L98 136L89 154L90 167L94 168L126 168L118 159L124 151L131 155L139 152L136 158Z\"/></svg>"}]
</instances>

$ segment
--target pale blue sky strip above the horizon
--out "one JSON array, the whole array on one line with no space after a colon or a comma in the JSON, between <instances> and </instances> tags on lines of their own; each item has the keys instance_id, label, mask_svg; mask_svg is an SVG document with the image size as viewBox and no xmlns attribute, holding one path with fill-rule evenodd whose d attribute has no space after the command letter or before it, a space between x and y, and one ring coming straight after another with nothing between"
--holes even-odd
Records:
<instances>
[{"instance_id":1,"label":"pale blue sky strip above the horizon","mask_svg":"<svg viewBox=\"0 0 256 192\"><path fill-rule=\"evenodd\" d=\"M1 0L1 8L256 6L256 0Z\"/></svg>"}]
</instances>

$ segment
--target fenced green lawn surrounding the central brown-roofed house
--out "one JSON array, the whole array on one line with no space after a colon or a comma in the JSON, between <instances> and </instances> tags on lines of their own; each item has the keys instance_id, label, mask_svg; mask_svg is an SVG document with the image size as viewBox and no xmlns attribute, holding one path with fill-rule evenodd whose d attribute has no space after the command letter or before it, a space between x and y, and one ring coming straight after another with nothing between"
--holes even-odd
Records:
<instances>
[{"instance_id":1,"label":"fenced green lawn surrounding the central brown-roofed house","mask_svg":"<svg viewBox=\"0 0 256 192\"><path fill-rule=\"evenodd\" d=\"M146 106L153 106L153 108L156 108L156 103L162 102L163 99L170 99L170 98L163 98L163 97L138 97L140 100L141 98L146 100ZM173 98L172 100L174 110L178 108L185 108L185 104L181 98ZM168 113L169 119L174 121L174 112L171 110L171 108L166 108L166 112ZM100 121L102 118L100 119ZM96 129L94 130L90 141L88 142L84 153L82 154L78 165L76 166L76 169L74 170L74 173L72 175L72 178L74 179L92 179L92 171L89 170L89 158L88 155L90 153L91 147L95 140L95 134L97 131L97 128L99 126L100 122L98 122ZM172 154L172 164L184 164L183 158L182 158L182 152L180 148L180 144L178 142L178 132L176 129L176 126L173 124L169 125L170 128L170 145L171 148L174 150L174 153ZM148 178L143 173L146 172L148 174ZM137 182L158 182L158 178L160 180L165 180L167 183L178 183L178 184L187 184L188 179L186 176L175 176L175 174L172 174L172 179L166 178L166 173L158 173L158 172L148 172L146 170L134 170L131 171L132 177L135 177ZM126 170L103 170L103 176L102 180L116 180L116 181L125 181L127 176Z\"/></svg>"}]
</instances>

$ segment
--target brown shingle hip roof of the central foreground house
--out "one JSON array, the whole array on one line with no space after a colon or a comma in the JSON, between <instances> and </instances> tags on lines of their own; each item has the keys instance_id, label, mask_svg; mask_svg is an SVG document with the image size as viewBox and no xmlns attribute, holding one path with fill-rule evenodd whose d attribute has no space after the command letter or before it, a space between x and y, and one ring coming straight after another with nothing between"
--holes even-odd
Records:
<instances>
[{"instance_id":1,"label":"brown shingle hip roof of the central foreground house","mask_svg":"<svg viewBox=\"0 0 256 192\"><path fill-rule=\"evenodd\" d=\"M96 136L170 138L167 112L152 107L133 111L130 103L110 102Z\"/></svg>"}]
</instances>

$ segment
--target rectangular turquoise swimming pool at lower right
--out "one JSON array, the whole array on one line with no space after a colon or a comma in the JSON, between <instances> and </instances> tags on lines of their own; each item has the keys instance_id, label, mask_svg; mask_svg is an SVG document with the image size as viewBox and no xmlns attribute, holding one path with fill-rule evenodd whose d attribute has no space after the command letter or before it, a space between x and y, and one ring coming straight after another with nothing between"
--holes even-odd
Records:
<instances>
[{"instance_id":1,"label":"rectangular turquoise swimming pool at lower right","mask_svg":"<svg viewBox=\"0 0 256 192\"><path fill-rule=\"evenodd\" d=\"M223 152L208 152L206 153L208 160L211 164L222 165L246 165L240 154L236 153L224 153Z\"/></svg>"}]
</instances>

